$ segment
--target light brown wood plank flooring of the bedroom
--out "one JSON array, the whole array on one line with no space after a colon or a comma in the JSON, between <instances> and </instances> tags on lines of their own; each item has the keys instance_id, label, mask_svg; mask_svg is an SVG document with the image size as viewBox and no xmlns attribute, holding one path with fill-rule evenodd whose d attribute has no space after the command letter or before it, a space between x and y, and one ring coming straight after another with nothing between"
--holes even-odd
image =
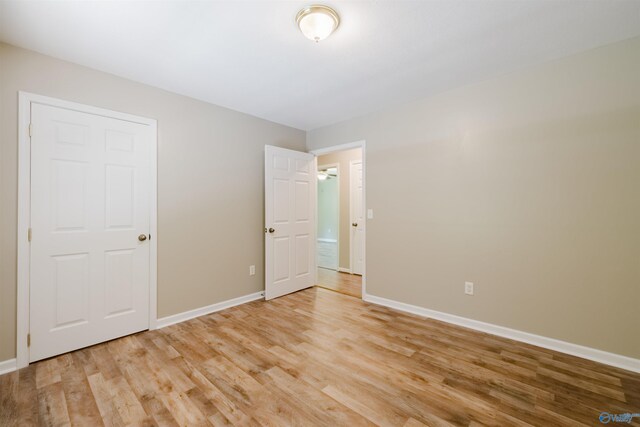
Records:
<instances>
[{"instance_id":1,"label":"light brown wood plank flooring of the bedroom","mask_svg":"<svg viewBox=\"0 0 640 427\"><path fill-rule=\"evenodd\" d=\"M322 288L0 376L2 426L577 426L603 411L640 412L640 375Z\"/></svg>"}]
</instances>

